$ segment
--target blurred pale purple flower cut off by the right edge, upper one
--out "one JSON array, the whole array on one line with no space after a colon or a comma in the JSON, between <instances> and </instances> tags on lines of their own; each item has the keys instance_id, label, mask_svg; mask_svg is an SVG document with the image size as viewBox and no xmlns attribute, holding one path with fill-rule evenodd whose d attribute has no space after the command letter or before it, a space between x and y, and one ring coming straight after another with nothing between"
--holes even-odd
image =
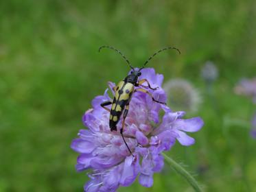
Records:
<instances>
[{"instance_id":1,"label":"blurred pale purple flower cut off by the right edge, upper one","mask_svg":"<svg viewBox=\"0 0 256 192\"><path fill-rule=\"evenodd\" d=\"M253 98L253 102L256 104L256 77L252 80L246 78L240 80L235 86L235 93L238 95L246 95Z\"/></svg>"}]
</instances>

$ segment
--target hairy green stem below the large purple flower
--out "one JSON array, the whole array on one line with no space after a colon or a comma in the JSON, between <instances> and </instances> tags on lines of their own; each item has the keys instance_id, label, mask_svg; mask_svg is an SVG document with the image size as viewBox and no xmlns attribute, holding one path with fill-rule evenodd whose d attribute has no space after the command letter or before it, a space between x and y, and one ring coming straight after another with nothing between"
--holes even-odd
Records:
<instances>
[{"instance_id":1,"label":"hairy green stem below the large purple flower","mask_svg":"<svg viewBox=\"0 0 256 192\"><path fill-rule=\"evenodd\" d=\"M183 176L183 178L185 178L187 180L187 182L189 182L189 184L191 184L191 187L193 187L195 191L202 192L202 189L200 189L198 182L196 182L196 180L193 178L193 176L191 176L191 174L189 174L189 172L187 172L183 167L181 167L181 165L176 163L172 158L170 158L169 156L167 156L164 153L162 153L162 154L163 154L166 162L169 163L169 165L172 167L172 169L174 169L177 173L180 173L181 176Z\"/></svg>"}]
</instances>

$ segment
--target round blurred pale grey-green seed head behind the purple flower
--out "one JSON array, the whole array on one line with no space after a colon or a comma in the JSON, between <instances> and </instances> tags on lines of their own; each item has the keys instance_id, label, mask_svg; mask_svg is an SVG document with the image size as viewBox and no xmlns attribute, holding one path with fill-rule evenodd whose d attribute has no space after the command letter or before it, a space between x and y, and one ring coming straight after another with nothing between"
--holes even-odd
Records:
<instances>
[{"instance_id":1,"label":"round blurred pale grey-green seed head behind the purple flower","mask_svg":"<svg viewBox=\"0 0 256 192\"><path fill-rule=\"evenodd\" d=\"M163 85L167 94L167 104L172 110L196 112L202 99L200 94L187 80L173 79Z\"/></svg>"}]
</instances>

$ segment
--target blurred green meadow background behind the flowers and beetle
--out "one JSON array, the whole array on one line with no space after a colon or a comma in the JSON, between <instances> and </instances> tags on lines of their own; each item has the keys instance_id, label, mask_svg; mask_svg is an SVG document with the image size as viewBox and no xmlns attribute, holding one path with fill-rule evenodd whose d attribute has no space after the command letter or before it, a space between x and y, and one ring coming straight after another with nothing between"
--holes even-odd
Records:
<instances>
[{"instance_id":1,"label":"blurred green meadow background behind the flowers and beetle","mask_svg":"<svg viewBox=\"0 0 256 192\"><path fill-rule=\"evenodd\" d=\"M82 115L107 82L128 73L120 49L135 66L175 46L149 67L165 80L182 77L200 91L205 126L168 153L205 191L256 191L256 141L249 134L255 106L233 93L256 73L256 1L0 1L0 191L82 191L70 149ZM200 69L207 60L220 77L213 97ZM213 108L213 105L216 106ZM172 106L170 106L172 108ZM154 186L136 181L118 191L193 191L168 165Z\"/></svg>"}]
</instances>

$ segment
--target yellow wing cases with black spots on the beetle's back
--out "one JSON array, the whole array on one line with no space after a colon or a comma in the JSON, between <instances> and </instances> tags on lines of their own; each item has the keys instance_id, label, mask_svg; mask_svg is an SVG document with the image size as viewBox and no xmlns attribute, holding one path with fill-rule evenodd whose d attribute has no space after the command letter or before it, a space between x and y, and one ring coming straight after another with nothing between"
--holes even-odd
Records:
<instances>
[{"instance_id":1,"label":"yellow wing cases with black spots on the beetle's back","mask_svg":"<svg viewBox=\"0 0 256 192\"><path fill-rule=\"evenodd\" d=\"M116 125L124 111L124 107L129 104L133 91L134 86L131 83L121 81L117 84L115 98L110 110L109 127L111 131L117 130Z\"/></svg>"}]
</instances>

